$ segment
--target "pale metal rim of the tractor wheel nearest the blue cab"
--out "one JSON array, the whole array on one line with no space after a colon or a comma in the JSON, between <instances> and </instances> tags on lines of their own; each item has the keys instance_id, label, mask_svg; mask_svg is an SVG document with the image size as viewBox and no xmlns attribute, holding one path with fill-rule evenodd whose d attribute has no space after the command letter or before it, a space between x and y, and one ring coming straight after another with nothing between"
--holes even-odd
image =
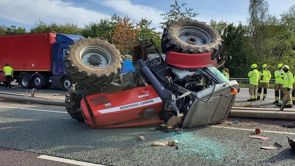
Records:
<instances>
[{"instance_id":1,"label":"pale metal rim of the tractor wheel nearest the blue cab","mask_svg":"<svg viewBox=\"0 0 295 166\"><path fill-rule=\"evenodd\" d=\"M112 58L108 51L98 46L87 46L79 52L80 60L88 67L101 69L109 66Z\"/></svg>"}]
</instances>

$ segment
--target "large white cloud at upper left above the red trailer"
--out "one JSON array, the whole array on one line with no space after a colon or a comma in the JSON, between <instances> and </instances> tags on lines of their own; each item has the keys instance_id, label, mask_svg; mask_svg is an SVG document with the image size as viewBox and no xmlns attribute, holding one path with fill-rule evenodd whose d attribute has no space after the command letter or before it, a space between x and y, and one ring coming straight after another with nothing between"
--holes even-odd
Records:
<instances>
[{"instance_id":1,"label":"large white cloud at upper left above the red trailer","mask_svg":"<svg viewBox=\"0 0 295 166\"><path fill-rule=\"evenodd\" d=\"M84 23L105 17L110 16L61 0L0 0L0 18L27 25L34 25L40 18L47 24L74 22L83 27Z\"/></svg>"}]
</instances>

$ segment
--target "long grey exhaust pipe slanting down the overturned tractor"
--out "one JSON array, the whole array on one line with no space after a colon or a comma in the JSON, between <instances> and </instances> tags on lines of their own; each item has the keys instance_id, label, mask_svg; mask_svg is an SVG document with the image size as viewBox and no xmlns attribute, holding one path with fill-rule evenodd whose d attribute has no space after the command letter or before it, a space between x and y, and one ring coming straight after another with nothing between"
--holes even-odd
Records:
<instances>
[{"instance_id":1,"label":"long grey exhaust pipe slanting down the overturned tractor","mask_svg":"<svg viewBox=\"0 0 295 166\"><path fill-rule=\"evenodd\" d=\"M148 69L147 65L144 63L144 61L142 59L137 61L137 67L139 70L141 70L145 76L148 77L148 80L151 81L152 85L154 86L154 88L158 91L158 93L160 94L160 96L165 99L165 95L164 95L164 87L161 85L161 83L157 80L157 78L154 76L154 74ZM177 115L179 114L179 109L175 106L175 104L170 101L165 99L165 102L167 104L169 104L174 111L177 113Z\"/></svg>"}]
</instances>

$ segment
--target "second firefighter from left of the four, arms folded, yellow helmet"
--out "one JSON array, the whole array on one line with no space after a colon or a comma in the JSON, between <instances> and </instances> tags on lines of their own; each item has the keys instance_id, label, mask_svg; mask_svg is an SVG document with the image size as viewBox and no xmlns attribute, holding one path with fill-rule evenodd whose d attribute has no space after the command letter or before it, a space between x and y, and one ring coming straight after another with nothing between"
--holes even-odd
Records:
<instances>
[{"instance_id":1,"label":"second firefighter from left of the four, arms folded, yellow helmet","mask_svg":"<svg viewBox=\"0 0 295 166\"><path fill-rule=\"evenodd\" d=\"M264 64L262 65L262 71L259 72L259 84L258 84L258 91L257 91L257 99L260 100L260 95L263 88L263 99L265 100L267 96L267 89L269 87L269 80L271 79L271 72L268 69L268 65Z\"/></svg>"}]
</instances>

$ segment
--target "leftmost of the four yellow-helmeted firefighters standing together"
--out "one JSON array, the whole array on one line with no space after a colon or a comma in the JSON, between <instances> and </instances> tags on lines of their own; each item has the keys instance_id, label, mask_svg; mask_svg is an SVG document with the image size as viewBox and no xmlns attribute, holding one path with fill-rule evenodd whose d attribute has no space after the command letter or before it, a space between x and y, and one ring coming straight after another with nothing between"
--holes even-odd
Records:
<instances>
[{"instance_id":1,"label":"leftmost of the four yellow-helmeted firefighters standing together","mask_svg":"<svg viewBox=\"0 0 295 166\"><path fill-rule=\"evenodd\" d=\"M251 71L249 71L248 77L250 77L249 79L250 99L248 99L247 101L255 101L257 98L257 87L258 87L258 77L259 77L257 64L251 65Z\"/></svg>"}]
</instances>

